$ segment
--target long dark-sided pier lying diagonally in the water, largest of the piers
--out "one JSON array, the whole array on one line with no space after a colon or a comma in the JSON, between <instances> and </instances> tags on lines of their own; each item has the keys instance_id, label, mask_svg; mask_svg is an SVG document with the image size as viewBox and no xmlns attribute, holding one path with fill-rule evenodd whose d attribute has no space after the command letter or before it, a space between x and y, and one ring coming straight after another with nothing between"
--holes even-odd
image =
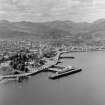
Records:
<instances>
[{"instance_id":1,"label":"long dark-sided pier lying diagonally in the water, largest of the piers","mask_svg":"<svg viewBox=\"0 0 105 105\"><path fill-rule=\"evenodd\" d=\"M49 79L58 79L60 77L64 77L64 76L67 76L67 75L70 75L70 74L74 74L74 73L77 73L77 72L80 72L80 71L82 71L82 69L76 69L74 67L71 67L71 69L70 68L66 68L63 71L56 72L56 74L50 76Z\"/></svg>"}]
</instances>

